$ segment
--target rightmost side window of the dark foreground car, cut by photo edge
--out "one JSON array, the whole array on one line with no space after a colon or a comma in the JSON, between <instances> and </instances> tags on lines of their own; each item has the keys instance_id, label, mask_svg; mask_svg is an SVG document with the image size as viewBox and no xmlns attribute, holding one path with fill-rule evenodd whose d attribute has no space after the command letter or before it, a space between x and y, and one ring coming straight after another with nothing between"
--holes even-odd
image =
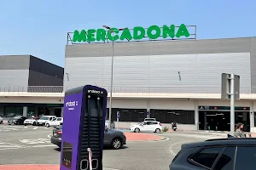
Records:
<instances>
[{"instance_id":1,"label":"rightmost side window of the dark foreground car, cut by photo edge","mask_svg":"<svg viewBox=\"0 0 256 170\"><path fill-rule=\"evenodd\" d=\"M238 147L236 151L237 170L246 169L245 167L256 167L256 146Z\"/></svg>"}]
</instances>

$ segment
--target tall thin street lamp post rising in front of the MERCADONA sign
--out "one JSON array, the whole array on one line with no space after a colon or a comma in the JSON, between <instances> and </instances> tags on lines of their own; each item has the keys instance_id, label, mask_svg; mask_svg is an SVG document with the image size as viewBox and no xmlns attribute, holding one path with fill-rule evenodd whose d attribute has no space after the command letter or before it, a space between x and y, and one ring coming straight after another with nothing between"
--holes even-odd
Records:
<instances>
[{"instance_id":1,"label":"tall thin street lamp post rising in front of the MERCADONA sign","mask_svg":"<svg viewBox=\"0 0 256 170\"><path fill-rule=\"evenodd\" d=\"M107 30L110 29L109 26L103 26ZM127 28L119 28L119 31L123 31ZM110 31L113 33L113 31ZM109 128L111 128L111 114L112 114L112 91L113 91L113 40L112 40L112 58L111 58L111 82L110 82L110 99L109 99Z\"/></svg>"}]
</instances>

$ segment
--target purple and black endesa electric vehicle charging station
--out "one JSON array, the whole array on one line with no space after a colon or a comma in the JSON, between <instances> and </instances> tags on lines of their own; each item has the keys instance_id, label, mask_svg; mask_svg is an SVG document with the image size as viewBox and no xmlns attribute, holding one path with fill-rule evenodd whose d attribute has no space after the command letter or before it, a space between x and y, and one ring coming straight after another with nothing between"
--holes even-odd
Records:
<instances>
[{"instance_id":1,"label":"purple and black endesa electric vehicle charging station","mask_svg":"<svg viewBox=\"0 0 256 170\"><path fill-rule=\"evenodd\" d=\"M102 170L108 93L86 85L67 90L61 141L61 170Z\"/></svg>"}]
</instances>

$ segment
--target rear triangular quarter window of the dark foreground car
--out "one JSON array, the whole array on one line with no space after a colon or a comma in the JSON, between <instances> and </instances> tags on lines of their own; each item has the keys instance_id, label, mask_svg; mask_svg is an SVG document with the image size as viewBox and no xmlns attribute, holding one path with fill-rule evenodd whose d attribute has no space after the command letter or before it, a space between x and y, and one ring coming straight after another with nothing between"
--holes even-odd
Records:
<instances>
[{"instance_id":1,"label":"rear triangular quarter window of the dark foreground car","mask_svg":"<svg viewBox=\"0 0 256 170\"><path fill-rule=\"evenodd\" d=\"M190 161L211 168L221 150L223 147L206 148L191 156Z\"/></svg>"}]
</instances>

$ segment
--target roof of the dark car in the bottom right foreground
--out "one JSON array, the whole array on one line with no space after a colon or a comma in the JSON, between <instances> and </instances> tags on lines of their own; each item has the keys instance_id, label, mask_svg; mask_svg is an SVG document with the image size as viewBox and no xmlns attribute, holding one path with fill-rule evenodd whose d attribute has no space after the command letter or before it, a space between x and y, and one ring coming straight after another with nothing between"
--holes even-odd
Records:
<instances>
[{"instance_id":1,"label":"roof of the dark car in the bottom right foreground","mask_svg":"<svg viewBox=\"0 0 256 170\"><path fill-rule=\"evenodd\" d=\"M203 142L183 144L182 149L217 145L256 145L256 138L208 139Z\"/></svg>"}]
</instances>

